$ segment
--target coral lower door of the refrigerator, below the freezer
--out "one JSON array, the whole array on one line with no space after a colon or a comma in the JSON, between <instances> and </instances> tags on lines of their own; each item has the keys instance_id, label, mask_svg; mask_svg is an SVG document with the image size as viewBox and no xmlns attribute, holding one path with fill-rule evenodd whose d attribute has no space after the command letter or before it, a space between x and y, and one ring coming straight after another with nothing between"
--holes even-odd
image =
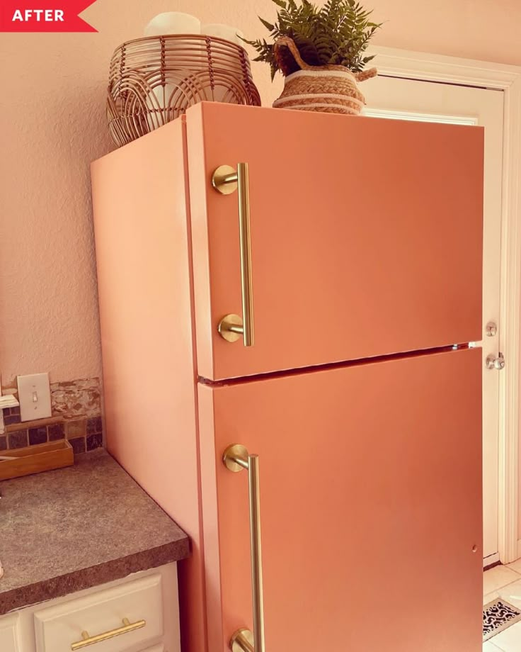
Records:
<instances>
[{"instance_id":1,"label":"coral lower door of the refrigerator, below the freezer","mask_svg":"<svg viewBox=\"0 0 521 652\"><path fill-rule=\"evenodd\" d=\"M268 652L481 652L481 352L201 386L208 648L253 629L258 454Z\"/></svg>"}]
</instances>

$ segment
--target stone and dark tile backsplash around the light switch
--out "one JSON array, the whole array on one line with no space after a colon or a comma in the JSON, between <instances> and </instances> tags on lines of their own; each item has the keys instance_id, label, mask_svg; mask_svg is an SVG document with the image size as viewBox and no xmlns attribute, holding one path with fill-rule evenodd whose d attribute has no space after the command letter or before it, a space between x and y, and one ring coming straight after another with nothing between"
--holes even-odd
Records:
<instances>
[{"instance_id":1,"label":"stone and dark tile backsplash around the light switch","mask_svg":"<svg viewBox=\"0 0 521 652\"><path fill-rule=\"evenodd\" d=\"M2 392L18 395L16 387L3 388ZM6 432L0 434L0 451L59 439L68 439L74 453L103 446L99 378L51 383L51 408L51 417L26 422L21 422L20 408L4 410Z\"/></svg>"}]
</instances>

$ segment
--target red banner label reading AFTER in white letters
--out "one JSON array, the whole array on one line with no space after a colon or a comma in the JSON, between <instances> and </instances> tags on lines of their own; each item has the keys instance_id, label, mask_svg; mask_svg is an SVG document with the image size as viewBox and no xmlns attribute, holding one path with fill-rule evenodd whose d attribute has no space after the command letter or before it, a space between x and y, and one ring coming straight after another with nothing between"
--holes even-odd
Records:
<instances>
[{"instance_id":1,"label":"red banner label reading AFTER in white letters","mask_svg":"<svg viewBox=\"0 0 521 652\"><path fill-rule=\"evenodd\" d=\"M0 32L97 32L79 14L96 0L0 0Z\"/></svg>"}]
</instances>

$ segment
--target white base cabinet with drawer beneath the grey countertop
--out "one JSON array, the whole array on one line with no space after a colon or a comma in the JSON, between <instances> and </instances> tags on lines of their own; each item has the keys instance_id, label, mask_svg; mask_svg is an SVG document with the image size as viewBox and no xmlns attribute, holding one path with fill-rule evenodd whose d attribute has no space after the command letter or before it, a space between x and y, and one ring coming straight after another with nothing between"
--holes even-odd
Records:
<instances>
[{"instance_id":1,"label":"white base cabinet with drawer beneath the grey countertop","mask_svg":"<svg viewBox=\"0 0 521 652\"><path fill-rule=\"evenodd\" d=\"M71 643L144 621L93 652L181 652L176 563L0 616L0 652L70 652Z\"/></svg>"}]
</instances>

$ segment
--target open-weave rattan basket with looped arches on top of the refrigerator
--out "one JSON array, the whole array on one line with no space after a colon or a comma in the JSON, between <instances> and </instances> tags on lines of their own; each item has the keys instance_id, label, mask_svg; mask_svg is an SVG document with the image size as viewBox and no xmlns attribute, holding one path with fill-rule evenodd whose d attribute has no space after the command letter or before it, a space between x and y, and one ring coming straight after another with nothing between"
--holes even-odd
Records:
<instances>
[{"instance_id":1,"label":"open-weave rattan basket with looped arches on top of the refrigerator","mask_svg":"<svg viewBox=\"0 0 521 652\"><path fill-rule=\"evenodd\" d=\"M165 125L203 100L260 106L246 50L200 34L151 36L118 47L107 118L116 145Z\"/></svg>"}]
</instances>

